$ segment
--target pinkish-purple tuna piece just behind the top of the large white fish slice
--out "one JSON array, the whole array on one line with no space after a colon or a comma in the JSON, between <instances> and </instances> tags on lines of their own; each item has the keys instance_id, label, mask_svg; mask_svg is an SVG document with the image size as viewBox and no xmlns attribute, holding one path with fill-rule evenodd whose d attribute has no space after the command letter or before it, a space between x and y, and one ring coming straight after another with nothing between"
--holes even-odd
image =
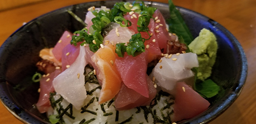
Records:
<instances>
[{"instance_id":1,"label":"pinkish-purple tuna piece just behind the top of the large white fish slice","mask_svg":"<svg viewBox=\"0 0 256 124\"><path fill-rule=\"evenodd\" d=\"M75 62L79 55L80 44L81 42L74 46L69 43L63 48L61 56L62 71L66 70L68 65L72 65Z\"/></svg>"}]
</instances>

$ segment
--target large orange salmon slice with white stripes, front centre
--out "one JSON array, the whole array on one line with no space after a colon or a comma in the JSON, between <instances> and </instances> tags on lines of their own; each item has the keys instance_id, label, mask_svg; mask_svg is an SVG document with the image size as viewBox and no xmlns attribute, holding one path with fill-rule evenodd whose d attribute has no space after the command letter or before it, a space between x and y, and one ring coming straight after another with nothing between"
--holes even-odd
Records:
<instances>
[{"instance_id":1,"label":"large orange salmon slice with white stripes, front centre","mask_svg":"<svg viewBox=\"0 0 256 124\"><path fill-rule=\"evenodd\" d=\"M99 104L114 98L121 88L121 76L113 64L116 60L115 49L113 45L107 44L92 56L92 61L99 68L97 78L102 80Z\"/></svg>"}]
</instances>

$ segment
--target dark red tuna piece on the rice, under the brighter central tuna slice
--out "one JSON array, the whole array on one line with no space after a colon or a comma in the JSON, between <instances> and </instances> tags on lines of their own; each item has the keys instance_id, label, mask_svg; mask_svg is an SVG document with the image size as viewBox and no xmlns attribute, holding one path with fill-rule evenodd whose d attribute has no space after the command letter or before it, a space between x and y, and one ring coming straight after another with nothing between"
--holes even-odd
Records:
<instances>
[{"instance_id":1,"label":"dark red tuna piece on the rice, under the brighter central tuna slice","mask_svg":"<svg viewBox=\"0 0 256 124\"><path fill-rule=\"evenodd\" d=\"M135 107L149 105L152 99L156 96L157 90L148 76L147 82L149 88L148 98L140 95L140 93L137 93L122 83L121 89L115 97L116 110L129 110Z\"/></svg>"}]
</instances>

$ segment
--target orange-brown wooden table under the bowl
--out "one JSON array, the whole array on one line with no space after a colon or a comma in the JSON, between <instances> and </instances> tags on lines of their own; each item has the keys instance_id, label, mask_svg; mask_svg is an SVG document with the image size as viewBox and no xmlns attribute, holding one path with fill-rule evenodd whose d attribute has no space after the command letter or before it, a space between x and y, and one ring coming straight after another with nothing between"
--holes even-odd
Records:
<instances>
[{"instance_id":1,"label":"orange-brown wooden table under the bowl","mask_svg":"<svg viewBox=\"0 0 256 124\"><path fill-rule=\"evenodd\" d=\"M0 11L0 45L24 22L49 11L95 0L45 0ZM154 1L154 0L153 0ZM167 3L168 0L155 0ZM186 1L186 2L185 2ZM217 21L241 43L248 60L248 76L239 98L210 124L256 124L256 0L173 0ZM0 124L21 124L0 104Z\"/></svg>"}]
</instances>

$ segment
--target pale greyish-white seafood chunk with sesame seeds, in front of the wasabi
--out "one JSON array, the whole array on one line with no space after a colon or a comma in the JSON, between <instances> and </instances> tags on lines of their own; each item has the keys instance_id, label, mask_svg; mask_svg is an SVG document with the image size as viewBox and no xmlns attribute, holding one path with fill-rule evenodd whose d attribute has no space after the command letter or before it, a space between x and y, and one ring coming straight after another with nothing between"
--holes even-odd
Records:
<instances>
[{"instance_id":1,"label":"pale greyish-white seafood chunk with sesame seeds, in front of the wasabi","mask_svg":"<svg viewBox=\"0 0 256 124\"><path fill-rule=\"evenodd\" d=\"M175 95L174 88L177 82L193 85L193 67L198 67L196 54L170 54L160 59L150 77L155 78L155 83L162 87L163 91Z\"/></svg>"}]
</instances>

